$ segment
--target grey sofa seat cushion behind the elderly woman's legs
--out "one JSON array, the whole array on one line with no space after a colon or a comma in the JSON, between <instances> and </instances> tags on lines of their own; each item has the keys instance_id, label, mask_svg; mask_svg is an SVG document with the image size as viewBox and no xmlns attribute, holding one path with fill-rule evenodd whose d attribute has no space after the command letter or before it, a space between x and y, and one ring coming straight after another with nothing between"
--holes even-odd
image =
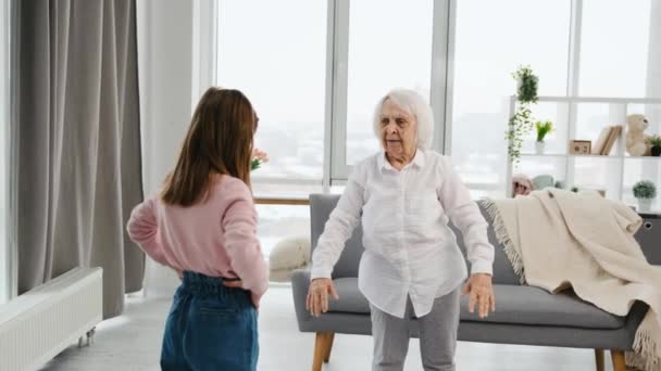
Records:
<instances>
[{"instance_id":1,"label":"grey sofa seat cushion behind the elderly woman's legs","mask_svg":"<svg viewBox=\"0 0 661 371\"><path fill-rule=\"evenodd\" d=\"M339 300L330 299L329 311L369 314L370 304L358 290L357 278L333 281ZM572 292L549 294L545 290L521 285L495 284L496 311L483 320L469 312L469 297L461 298L462 321L490 323L560 325L584 329L620 329L625 318L608 314L581 300Z\"/></svg>"}]
</instances>

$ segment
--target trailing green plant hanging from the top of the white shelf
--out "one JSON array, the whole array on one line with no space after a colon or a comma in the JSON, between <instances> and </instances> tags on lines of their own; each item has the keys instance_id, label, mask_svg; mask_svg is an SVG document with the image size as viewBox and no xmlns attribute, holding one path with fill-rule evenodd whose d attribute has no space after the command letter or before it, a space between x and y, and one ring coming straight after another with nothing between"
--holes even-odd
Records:
<instances>
[{"instance_id":1,"label":"trailing green plant hanging from the top of the white shelf","mask_svg":"<svg viewBox=\"0 0 661 371\"><path fill-rule=\"evenodd\" d=\"M531 106L537 103L537 85L539 78L533 74L529 66L521 66L512 74L516 80L516 112L508 123L506 139L508 140L508 154L511 162L519 162L521 144L533 129L533 113Z\"/></svg>"}]
</instances>

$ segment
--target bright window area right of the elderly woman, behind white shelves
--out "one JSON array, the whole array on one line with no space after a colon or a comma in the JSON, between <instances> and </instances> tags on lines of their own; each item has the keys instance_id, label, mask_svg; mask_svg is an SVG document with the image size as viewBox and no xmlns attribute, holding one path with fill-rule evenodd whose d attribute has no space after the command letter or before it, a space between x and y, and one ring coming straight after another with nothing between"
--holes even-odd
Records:
<instances>
[{"instance_id":1,"label":"bright window area right of the elderly woman, behind white shelves","mask_svg":"<svg viewBox=\"0 0 661 371\"><path fill-rule=\"evenodd\" d=\"M659 97L654 93L659 87L652 87L658 73L650 65L658 63L653 55L659 55L661 44L651 38L650 29L661 7L654 8L650 0L462 0L454 4L450 153L476 196L504 194L503 132L510 114L508 99L515 92L511 73L520 65L531 65L539 76L540 95ZM615 27L621 20L636 21ZM638 113L653 116L654 112L644 107ZM539 103L533 114L558 124L547 148L565 153L568 137L596 139L612 112L599 104ZM576 123L576 132L566 132L570 119ZM650 128L650 132L657 131ZM533 137L526 138L524 146L533 142ZM531 150L524 148L524 152ZM614 184L619 177L609 175L618 166L603 159L570 158L565 164L562 158L527 157L515 170L556 176L564 175L564 166L575 167L578 176L559 180L619 187Z\"/></svg>"}]
</instances>

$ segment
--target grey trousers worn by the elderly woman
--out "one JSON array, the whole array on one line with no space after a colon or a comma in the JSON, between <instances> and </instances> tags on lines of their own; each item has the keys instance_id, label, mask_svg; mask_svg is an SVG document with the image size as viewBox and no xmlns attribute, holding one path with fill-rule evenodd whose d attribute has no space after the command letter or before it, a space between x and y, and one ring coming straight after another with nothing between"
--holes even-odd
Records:
<instances>
[{"instance_id":1,"label":"grey trousers worn by the elderly woman","mask_svg":"<svg viewBox=\"0 0 661 371\"><path fill-rule=\"evenodd\" d=\"M436 298L432 311L417 319L420 353L425 371L454 371L460 290ZM407 300L404 318L388 315L373 305L370 308L374 337L372 371L403 370L413 315L411 299Z\"/></svg>"}]
</instances>

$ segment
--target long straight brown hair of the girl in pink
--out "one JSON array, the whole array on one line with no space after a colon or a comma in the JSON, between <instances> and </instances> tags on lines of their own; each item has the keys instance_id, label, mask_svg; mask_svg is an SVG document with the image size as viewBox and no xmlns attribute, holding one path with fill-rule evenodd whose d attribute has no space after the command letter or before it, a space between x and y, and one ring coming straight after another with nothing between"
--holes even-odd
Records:
<instances>
[{"instance_id":1,"label":"long straight brown hair of the girl in pink","mask_svg":"<svg viewBox=\"0 0 661 371\"><path fill-rule=\"evenodd\" d=\"M161 200L190 206L208 195L212 176L225 174L250 187L250 155L257 129L252 104L238 90L209 88L192 114L177 165Z\"/></svg>"}]
</instances>

